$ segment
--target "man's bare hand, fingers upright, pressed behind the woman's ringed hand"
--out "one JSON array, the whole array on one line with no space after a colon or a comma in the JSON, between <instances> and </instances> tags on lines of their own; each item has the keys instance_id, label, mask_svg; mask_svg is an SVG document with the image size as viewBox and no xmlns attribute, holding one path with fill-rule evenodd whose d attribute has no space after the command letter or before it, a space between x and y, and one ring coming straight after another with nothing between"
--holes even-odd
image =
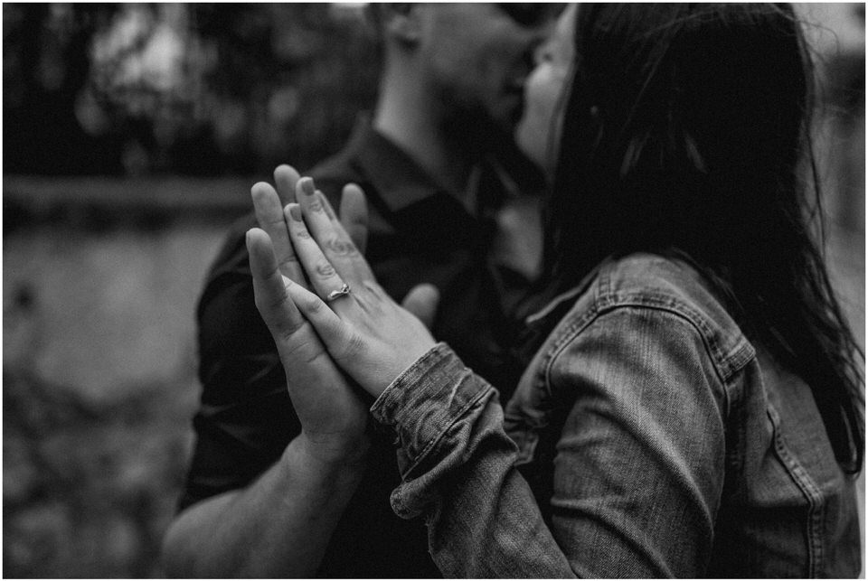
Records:
<instances>
[{"instance_id":1,"label":"man's bare hand, fingers upright, pressed behind the woman's ringed hand","mask_svg":"<svg viewBox=\"0 0 868 581\"><path fill-rule=\"evenodd\" d=\"M247 234L256 305L277 344L306 452L326 463L344 463L358 459L366 450L368 406L288 297L287 286L307 286L283 213L284 202L295 200L298 173L281 165L274 176L277 191L269 183L257 183L251 189L262 228ZM362 195L350 192L341 204L342 217L361 246L367 224Z\"/></svg>"}]
</instances>

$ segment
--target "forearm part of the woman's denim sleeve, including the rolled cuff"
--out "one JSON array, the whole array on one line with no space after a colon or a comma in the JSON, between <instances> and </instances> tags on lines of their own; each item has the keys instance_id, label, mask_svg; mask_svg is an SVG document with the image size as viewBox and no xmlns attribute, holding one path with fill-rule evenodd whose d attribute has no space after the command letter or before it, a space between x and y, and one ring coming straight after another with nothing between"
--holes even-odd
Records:
<instances>
[{"instance_id":1,"label":"forearm part of the woman's denim sleeve, including the rolled cuff","mask_svg":"<svg viewBox=\"0 0 868 581\"><path fill-rule=\"evenodd\" d=\"M401 485L392 509L424 513L429 550L446 577L567 577L570 564L512 468L497 392L440 343L371 408L394 426Z\"/></svg>"}]
</instances>

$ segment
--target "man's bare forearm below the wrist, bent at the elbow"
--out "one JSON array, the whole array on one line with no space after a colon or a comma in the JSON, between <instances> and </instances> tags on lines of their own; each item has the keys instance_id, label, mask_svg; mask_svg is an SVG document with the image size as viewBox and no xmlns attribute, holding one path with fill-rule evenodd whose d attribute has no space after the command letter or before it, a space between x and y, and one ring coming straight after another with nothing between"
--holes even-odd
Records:
<instances>
[{"instance_id":1,"label":"man's bare forearm below the wrist, bent at the elbow","mask_svg":"<svg viewBox=\"0 0 868 581\"><path fill-rule=\"evenodd\" d=\"M355 462L322 460L297 436L246 489L200 501L164 541L170 576L315 576L332 532L363 473Z\"/></svg>"}]
</instances>

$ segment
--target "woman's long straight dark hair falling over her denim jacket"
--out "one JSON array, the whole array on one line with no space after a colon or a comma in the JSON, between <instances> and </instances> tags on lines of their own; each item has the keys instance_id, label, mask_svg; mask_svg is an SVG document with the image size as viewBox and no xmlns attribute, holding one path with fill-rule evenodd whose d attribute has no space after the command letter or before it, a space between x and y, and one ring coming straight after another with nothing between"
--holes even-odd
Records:
<instances>
[{"instance_id":1,"label":"woman's long straight dark hair falling over her denim jacket","mask_svg":"<svg viewBox=\"0 0 868 581\"><path fill-rule=\"evenodd\" d=\"M792 8L581 4L575 47L546 216L555 288L609 256L688 255L750 339L807 381L838 462L858 472L863 354L812 239L813 81Z\"/></svg>"}]
</instances>

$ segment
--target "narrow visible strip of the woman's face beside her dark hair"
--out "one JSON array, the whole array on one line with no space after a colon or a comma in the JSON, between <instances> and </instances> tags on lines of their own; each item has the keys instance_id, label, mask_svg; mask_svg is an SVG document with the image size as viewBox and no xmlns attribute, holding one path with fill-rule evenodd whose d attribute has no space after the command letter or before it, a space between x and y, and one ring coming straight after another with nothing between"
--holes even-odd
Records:
<instances>
[{"instance_id":1,"label":"narrow visible strip of the woman's face beside her dark hair","mask_svg":"<svg viewBox=\"0 0 868 581\"><path fill-rule=\"evenodd\" d=\"M537 50L536 67L524 85L524 115L515 129L524 155L550 174L561 142L561 101L575 57L576 10L571 4L561 13L552 37Z\"/></svg>"}]
</instances>

